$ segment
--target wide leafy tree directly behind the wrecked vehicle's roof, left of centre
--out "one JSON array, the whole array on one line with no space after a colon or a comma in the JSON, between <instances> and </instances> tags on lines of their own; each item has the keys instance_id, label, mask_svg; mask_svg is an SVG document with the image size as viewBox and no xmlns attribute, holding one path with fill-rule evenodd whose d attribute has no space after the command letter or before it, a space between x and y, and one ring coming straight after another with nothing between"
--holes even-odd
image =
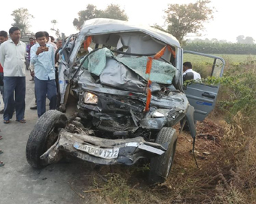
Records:
<instances>
[{"instance_id":1,"label":"wide leafy tree directly behind the wrecked vehicle's roof, left of centre","mask_svg":"<svg viewBox=\"0 0 256 204\"><path fill-rule=\"evenodd\" d=\"M78 19L73 20L73 26L80 30L85 20L93 18L111 18L115 20L128 20L128 17L124 10L120 9L119 5L108 5L105 10L97 10L95 5L87 5L86 10L80 10L78 12Z\"/></svg>"}]
</instances>

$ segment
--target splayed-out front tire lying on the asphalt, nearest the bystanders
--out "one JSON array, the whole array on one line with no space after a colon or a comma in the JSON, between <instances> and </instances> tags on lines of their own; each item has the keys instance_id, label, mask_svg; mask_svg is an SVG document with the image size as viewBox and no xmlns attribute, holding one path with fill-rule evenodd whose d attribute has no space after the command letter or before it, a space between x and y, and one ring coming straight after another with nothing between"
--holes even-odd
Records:
<instances>
[{"instance_id":1,"label":"splayed-out front tire lying on the asphalt, nearest the bystanders","mask_svg":"<svg viewBox=\"0 0 256 204\"><path fill-rule=\"evenodd\" d=\"M40 156L56 142L60 128L66 127L68 118L57 110L49 110L38 119L26 144L26 160L35 168L47 166Z\"/></svg>"}]
</instances>

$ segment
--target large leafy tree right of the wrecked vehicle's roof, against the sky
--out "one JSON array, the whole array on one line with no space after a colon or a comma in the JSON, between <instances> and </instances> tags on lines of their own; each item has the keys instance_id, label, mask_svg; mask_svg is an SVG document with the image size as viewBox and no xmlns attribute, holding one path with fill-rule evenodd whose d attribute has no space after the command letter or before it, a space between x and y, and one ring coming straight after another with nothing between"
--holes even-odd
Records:
<instances>
[{"instance_id":1,"label":"large leafy tree right of the wrecked vehicle's roof, against the sky","mask_svg":"<svg viewBox=\"0 0 256 204\"><path fill-rule=\"evenodd\" d=\"M213 19L214 8L208 6L210 2L209 0L199 0L187 5L169 4L165 10L165 22L167 24L165 31L182 43L186 34L198 33L198 31L203 30L203 23ZM155 25L154 27L162 27L163 30L163 26Z\"/></svg>"}]
</instances>

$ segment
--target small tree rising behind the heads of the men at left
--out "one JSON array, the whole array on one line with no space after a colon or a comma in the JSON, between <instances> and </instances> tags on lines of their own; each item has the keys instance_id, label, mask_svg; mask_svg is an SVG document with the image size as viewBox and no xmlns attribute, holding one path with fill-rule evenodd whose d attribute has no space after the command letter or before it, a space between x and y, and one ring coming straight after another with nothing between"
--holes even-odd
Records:
<instances>
[{"instance_id":1,"label":"small tree rising behind the heads of the men at left","mask_svg":"<svg viewBox=\"0 0 256 204\"><path fill-rule=\"evenodd\" d=\"M28 34L29 33L29 20L34 18L27 8L20 7L17 10L14 10L11 13L11 16L14 17L14 23L11 26L20 28L21 34Z\"/></svg>"}]
</instances>

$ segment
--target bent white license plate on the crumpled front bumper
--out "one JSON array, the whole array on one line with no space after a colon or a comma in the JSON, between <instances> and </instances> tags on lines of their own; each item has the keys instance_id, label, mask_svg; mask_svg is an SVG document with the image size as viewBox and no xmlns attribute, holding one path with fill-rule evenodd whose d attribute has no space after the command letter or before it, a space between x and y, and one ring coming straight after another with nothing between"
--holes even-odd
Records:
<instances>
[{"instance_id":1,"label":"bent white license plate on the crumpled front bumper","mask_svg":"<svg viewBox=\"0 0 256 204\"><path fill-rule=\"evenodd\" d=\"M75 143L74 147L78 150L85 151L96 157L101 157L104 159L113 159L118 157L119 148L99 148L92 145L82 145Z\"/></svg>"}]
</instances>

